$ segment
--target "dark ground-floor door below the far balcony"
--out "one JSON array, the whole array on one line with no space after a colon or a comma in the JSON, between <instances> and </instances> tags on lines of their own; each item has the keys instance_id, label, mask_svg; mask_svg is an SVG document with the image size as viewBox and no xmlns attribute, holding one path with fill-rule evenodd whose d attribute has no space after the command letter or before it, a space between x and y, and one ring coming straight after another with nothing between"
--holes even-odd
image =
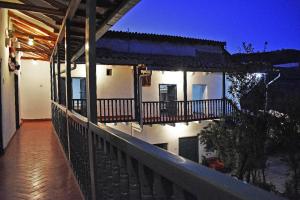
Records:
<instances>
[{"instance_id":1,"label":"dark ground-floor door below the far balcony","mask_svg":"<svg viewBox=\"0 0 300 200\"><path fill-rule=\"evenodd\" d=\"M179 155L198 163L198 136L179 138Z\"/></svg>"}]
</instances>

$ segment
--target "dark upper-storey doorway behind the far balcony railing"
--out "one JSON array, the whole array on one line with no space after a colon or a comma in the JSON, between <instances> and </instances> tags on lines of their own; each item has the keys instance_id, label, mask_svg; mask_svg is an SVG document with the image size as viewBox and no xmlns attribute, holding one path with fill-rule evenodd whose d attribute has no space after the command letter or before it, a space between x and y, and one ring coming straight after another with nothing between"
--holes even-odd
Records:
<instances>
[{"instance_id":1,"label":"dark upper-storey doorway behind the far balcony railing","mask_svg":"<svg viewBox=\"0 0 300 200\"><path fill-rule=\"evenodd\" d=\"M177 115L177 85L159 84L159 101L161 114Z\"/></svg>"}]
</instances>

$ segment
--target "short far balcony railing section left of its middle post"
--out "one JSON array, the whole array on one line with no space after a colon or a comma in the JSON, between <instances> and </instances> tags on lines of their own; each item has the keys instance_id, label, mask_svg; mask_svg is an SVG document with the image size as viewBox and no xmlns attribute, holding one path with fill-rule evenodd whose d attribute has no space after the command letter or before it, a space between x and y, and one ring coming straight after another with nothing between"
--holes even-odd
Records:
<instances>
[{"instance_id":1,"label":"short far balcony railing section left of its middle post","mask_svg":"<svg viewBox=\"0 0 300 200\"><path fill-rule=\"evenodd\" d=\"M102 123L135 121L134 99L97 99L98 120Z\"/></svg>"}]
</instances>

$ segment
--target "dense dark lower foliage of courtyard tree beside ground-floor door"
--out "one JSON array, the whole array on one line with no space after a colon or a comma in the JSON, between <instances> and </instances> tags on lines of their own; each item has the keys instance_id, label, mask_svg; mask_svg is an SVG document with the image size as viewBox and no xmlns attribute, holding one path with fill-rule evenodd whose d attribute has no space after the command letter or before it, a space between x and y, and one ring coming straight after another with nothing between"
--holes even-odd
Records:
<instances>
[{"instance_id":1,"label":"dense dark lower foliage of courtyard tree beside ground-floor door","mask_svg":"<svg viewBox=\"0 0 300 200\"><path fill-rule=\"evenodd\" d=\"M255 185L266 185L267 123L263 113L237 112L209 124L200 134L206 150L216 151L232 175ZM262 184L263 183L263 184Z\"/></svg>"}]
</instances>

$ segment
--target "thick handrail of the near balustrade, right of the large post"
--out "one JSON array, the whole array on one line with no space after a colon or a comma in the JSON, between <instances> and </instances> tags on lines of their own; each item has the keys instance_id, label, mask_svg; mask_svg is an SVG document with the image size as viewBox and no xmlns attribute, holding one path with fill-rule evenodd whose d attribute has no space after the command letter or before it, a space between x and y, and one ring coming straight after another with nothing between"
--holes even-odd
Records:
<instances>
[{"instance_id":1,"label":"thick handrail of the near balustrade, right of the large post","mask_svg":"<svg viewBox=\"0 0 300 200\"><path fill-rule=\"evenodd\" d=\"M93 123L89 123L89 127L106 142L195 195L197 199L281 199L274 194L201 166L113 128Z\"/></svg>"}]
</instances>

